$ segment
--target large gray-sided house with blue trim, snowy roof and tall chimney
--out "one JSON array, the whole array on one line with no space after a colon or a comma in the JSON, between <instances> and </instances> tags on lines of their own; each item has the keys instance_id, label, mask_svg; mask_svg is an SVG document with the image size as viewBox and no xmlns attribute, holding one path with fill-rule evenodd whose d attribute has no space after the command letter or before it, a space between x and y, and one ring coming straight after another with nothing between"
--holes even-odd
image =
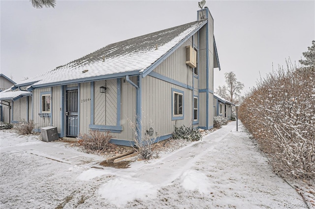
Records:
<instances>
[{"instance_id":1,"label":"large gray-sided house with blue trim, snowy roof and tall chimney","mask_svg":"<svg viewBox=\"0 0 315 209\"><path fill-rule=\"evenodd\" d=\"M139 134L158 140L174 126L213 128L213 70L220 69L208 8L197 21L110 44L15 84L31 92L37 131L57 127L60 137L111 131L130 146Z\"/></svg>"}]
</instances>

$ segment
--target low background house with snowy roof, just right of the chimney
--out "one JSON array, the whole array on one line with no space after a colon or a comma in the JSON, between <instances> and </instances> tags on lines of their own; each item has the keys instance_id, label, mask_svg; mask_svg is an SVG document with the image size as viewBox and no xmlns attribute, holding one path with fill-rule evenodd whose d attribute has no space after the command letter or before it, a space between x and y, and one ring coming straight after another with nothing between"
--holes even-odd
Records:
<instances>
[{"instance_id":1,"label":"low background house with snowy roof, just right of the chimney","mask_svg":"<svg viewBox=\"0 0 315 209\"><path fill-rule=\"evenodd\" d=\"M213 97L214 97L213 107L215 116L222 116L224 118L227 118L228 120L231 120L232 106L235 106L235 104L229 102L228 100L225 100L224 98L220 97L217 94L214 94Z\"/></svg>"}]
</instances>

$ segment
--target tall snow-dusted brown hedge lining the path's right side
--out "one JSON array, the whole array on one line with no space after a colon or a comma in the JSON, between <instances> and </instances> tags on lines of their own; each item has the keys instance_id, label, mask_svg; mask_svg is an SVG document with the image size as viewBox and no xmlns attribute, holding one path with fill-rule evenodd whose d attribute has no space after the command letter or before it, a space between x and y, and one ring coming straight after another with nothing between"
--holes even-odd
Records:
<instances>
[{"instance_id":1,"label":"tall snow-dusted brown hedge lining the path's right side","mask_svg":"<svg viewBox=\"0 0 315 209\"><path fill-rule=\"evenodd\" d=\"M257 82L239 117L281 175L315 178L315 69L279 69Z\"/></svg>"}]
</instances>

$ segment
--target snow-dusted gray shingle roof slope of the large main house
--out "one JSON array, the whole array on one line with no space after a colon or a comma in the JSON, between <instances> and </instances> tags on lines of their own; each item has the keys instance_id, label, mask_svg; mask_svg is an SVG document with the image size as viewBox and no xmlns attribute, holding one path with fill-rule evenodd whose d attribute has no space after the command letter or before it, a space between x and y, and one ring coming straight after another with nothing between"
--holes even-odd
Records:
<instances>
[{"instance_id":1,"label":"snow-dusted gray shingle roof slope of the large main house","mask_svg":"<svg viewBox=\"0 0 315 209\"><path fill-rule=\"evenodd\" d=\"M23 83L36 86L127 72L142 73L206 21L195 21L107 45Z\"/></svg>"}]
</instances>

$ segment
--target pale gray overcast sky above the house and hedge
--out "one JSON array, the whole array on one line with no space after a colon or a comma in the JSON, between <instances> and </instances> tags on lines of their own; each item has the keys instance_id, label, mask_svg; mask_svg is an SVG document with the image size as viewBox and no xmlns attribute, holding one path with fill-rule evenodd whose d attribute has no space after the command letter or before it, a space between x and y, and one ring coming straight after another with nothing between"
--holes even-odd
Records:
<instances>
[{"instance_id":1,"label":"pale gray overcast sky above the house and hedge","mask_svg":"<svg viewBox=\"0 0 315 209\"><path fill-rule=\"evenodd\" d=\"M244 92L267 73L298 63L315 40L314 0L207 0L221 71L234 71ZM53 70L108 44L196 20L198 0L57 0L35 9L29 0L0 0L0 72L15 82Z\"/></svg>"}]
</instances>

